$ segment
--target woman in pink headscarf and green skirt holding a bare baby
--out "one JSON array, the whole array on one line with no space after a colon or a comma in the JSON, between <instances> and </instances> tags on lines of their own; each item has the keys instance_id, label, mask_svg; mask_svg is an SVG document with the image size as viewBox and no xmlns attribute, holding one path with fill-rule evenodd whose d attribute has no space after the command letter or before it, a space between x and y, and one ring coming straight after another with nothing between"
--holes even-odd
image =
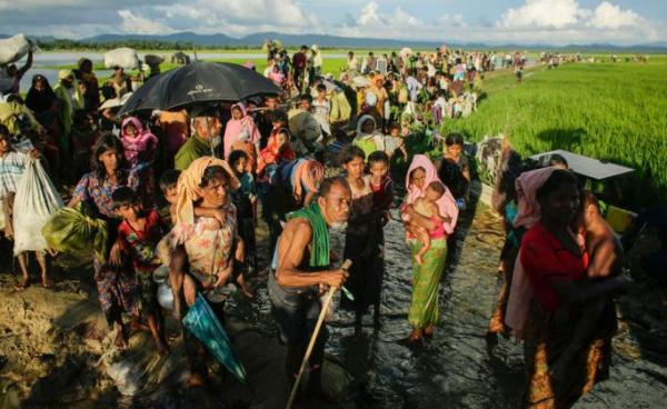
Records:
<instances>
[{"instance_id":1,"label":"woman in pink headscarf and green skirt holding a bare baby","mask_svg":"<svg viewBox=\"0 0 667 409\"><path fill-rule=\"evenodd\" d=\"M406 178L406 201L401 207L401 217L404 220L411 220L427 230L434 230L438 226L435 221L428 219L412 209L415 201L422 197L426 188L432 181L440 181L434 163L424 154L416 154L408 168ZM431 238L430 249L422 256L422 263L415 260L415 256L424 246L421 241L408 237L408 245L412 253L412 297L408 319L412 327L410 342L419 341L422 336L432 336L439 319L438 290L440 277L445 270L445 260L447 259L447 236L454 232L458 219L458 207L449 189L445 189L445 194L436 202L438 211L444 218L449 218L448 222L442 223L445 237Z\"/></svg>"}]
</instances>

